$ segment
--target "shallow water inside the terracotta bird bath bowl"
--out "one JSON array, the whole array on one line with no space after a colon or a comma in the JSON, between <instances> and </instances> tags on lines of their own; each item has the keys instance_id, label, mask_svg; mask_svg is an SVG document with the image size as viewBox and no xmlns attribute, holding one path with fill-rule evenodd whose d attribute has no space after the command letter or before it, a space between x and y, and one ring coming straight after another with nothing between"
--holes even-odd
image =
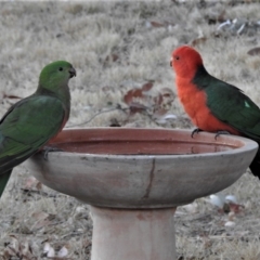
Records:
<instances>
[{"instance_id":1,"label":"shallow water inside the terracotta bird bath bowl","mask_svg":"<svg viewBox=\"0 0 260 260\"><path fill-rule=\"evenodd\" d=\"M235 148L232 145L177 141L90 141L56 145L64 152L110 155L181 155L218 153Z\"/></svg>"}]
</instances>

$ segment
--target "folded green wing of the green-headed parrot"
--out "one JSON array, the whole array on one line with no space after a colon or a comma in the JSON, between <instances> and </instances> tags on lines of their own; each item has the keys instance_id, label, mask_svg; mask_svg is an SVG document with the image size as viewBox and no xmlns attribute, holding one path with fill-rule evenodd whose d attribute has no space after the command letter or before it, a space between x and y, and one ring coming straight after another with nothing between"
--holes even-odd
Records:
<instances>
[{"instance_id":1,"label":"folded green wing of the green-headed parrot","mask_svg":"<svg viewBox=\"0 0 260 260\"><path fill-rule=\"evenodd\" d=\"M61 129L65 109L58 99L31 95L0 121L0 174L30 157Z\"/></svg>"}]
</instances>

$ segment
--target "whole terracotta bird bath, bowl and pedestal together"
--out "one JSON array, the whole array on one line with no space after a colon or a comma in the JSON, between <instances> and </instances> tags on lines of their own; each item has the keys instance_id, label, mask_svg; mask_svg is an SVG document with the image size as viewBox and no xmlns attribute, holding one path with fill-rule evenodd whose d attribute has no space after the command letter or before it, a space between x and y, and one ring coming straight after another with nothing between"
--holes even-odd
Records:
<instances>
[{"instance_id":1,"label":"whole terracotta bird bath, bowl and pedestal together","mask_svg":"<svg viewBox=\"0 0 260 260\"><path fill-rule=\"evenodd\" d=\"M47 186L91 205L92 260L173 260L178 206L217 193L247 169L257 143L191 130L66 129L63 152L27 160Z\"/></svg>"}]
</instances>

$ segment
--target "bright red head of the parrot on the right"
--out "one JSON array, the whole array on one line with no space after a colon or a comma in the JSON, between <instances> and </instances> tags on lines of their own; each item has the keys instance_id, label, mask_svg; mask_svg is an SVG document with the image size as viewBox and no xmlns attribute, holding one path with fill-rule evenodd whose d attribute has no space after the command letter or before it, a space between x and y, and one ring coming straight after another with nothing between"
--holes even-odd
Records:
<instances>
[{"instance_id":1,"label":"bright red head of the parrot on the right","mask_svg":"<svg viewBox=\"0 0 260 260\"><path fill-rule=\"evenodd\" d=\"M177 77L192 79L202 65L202 56L195 49L188 46L182 46L172 52L171 66Z\"/></svg>"}]
</instances>

